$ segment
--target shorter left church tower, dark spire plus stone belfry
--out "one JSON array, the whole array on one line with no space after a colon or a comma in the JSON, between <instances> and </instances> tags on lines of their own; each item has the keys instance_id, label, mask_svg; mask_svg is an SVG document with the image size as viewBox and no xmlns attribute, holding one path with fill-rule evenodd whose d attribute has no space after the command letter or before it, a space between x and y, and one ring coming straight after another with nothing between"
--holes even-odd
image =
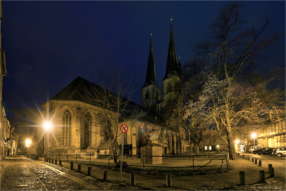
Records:
<instances>
[{"instance_id":1,"label":"shorter left church tower, dark spire plus stone belfry","mask_svg":"<svg viewBox=\"0 0 286 191\"><path fill-rule=\"evenodd\" d=\"M154 53L152 46L152 33L150 40L146 80L144 86L141 88L142 92L142 107L153 109L157 111L156 103L161 99L161 90L158 87Z\"/></svg>"}]
</instances>

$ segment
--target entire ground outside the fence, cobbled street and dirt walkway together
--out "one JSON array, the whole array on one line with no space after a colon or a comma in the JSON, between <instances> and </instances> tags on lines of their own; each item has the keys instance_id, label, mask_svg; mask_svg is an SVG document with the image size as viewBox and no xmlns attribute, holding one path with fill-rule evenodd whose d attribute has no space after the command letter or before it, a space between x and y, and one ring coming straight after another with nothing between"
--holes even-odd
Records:
<instances>
[{"instance_id":1,"label":"entire ground outside the fence, cobbled street and dirt walkway together","mask_svg":"<svg viewBox=\"0 0 286 191\"><path fill-rule=\"evenodd\" d=\"M26 159L21 156L1 160L0 190L285 190L285 174L275 172L269 177L268 169L237 156L231 161L231 169L224 173L197 176L172 174L172 187L166 186L166 175L136 173L136 186L130 186L130 173L92 166L92 176L87 176L89 165L81 164L82 173L76 172L78 164L70 170L70 163L63 166ZM59 164L59 162L58 162ZM268 182L259 182L259 170L265 170ZM108 182L102 182L104 171L108 171ZM246 185L239 184L239 171L245 171ZM17 187L19 185L25 185Z\"/></svg>"}]
</instances>

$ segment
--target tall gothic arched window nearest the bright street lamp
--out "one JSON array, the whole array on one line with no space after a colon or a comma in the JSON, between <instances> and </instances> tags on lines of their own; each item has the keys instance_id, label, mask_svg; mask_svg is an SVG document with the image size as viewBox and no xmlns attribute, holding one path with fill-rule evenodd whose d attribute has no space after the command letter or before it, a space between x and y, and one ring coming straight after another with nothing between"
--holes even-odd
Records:
<instances>
[{"instance_id":1,"label":"tall gothic arched window nearest the bright street lamp","mask_svg":"<svg viewBox=\"0 0 286 191\"><path fill-rule=\"evenodd\" d=\"M63 112L61 144L71 145L71 142L72 142L72 114L67 109Z\"/></svg>"}]
</instances>

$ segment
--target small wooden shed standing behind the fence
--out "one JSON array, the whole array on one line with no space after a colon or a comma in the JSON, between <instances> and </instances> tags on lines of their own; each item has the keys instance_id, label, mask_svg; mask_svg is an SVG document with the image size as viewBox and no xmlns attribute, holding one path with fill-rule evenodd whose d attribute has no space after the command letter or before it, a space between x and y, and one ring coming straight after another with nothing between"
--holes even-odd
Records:
<instances>
[{"instance_id":1,"label":"small wooden shed standing behind the fence","mask_svg":"<svg viewBox=\"0 0 286 191\"><path fill-rule=\"evenodd\" d=\"M145 143L141 146L141 164L162 164L162 145Z\"/></svg>"}]
</instances>

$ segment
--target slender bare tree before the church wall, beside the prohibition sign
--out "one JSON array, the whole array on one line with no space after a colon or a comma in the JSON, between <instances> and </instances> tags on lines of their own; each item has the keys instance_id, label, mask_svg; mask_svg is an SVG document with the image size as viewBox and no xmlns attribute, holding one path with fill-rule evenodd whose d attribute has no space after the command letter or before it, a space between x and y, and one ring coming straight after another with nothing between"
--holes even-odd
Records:
<instances>
[{"instance_id":1,"label":"slender bare tree before the church wall, beside the prohibition sign","mask_svg":"<svg viewBox=\"0 0 286 191\"><path fill-rule=\"evenodd\" d=\"M98 85L91 82L88 85L83 84L84 91L81 95L86 103L99 108L89 111L95 119L92 123L96 126L96 131L91 133L100 134L104 141L109 141L112 154L115 155L118 149L117 140L122 134L119 129L122 121L133 121L145 114L131 101L135 92L134 81L122 76L122 73L121 68L116 68L110 70L107 78L99 80L96 77ZM116 161L117 158L114 157L114 162Z\"/></svg>"}]
</instances>

